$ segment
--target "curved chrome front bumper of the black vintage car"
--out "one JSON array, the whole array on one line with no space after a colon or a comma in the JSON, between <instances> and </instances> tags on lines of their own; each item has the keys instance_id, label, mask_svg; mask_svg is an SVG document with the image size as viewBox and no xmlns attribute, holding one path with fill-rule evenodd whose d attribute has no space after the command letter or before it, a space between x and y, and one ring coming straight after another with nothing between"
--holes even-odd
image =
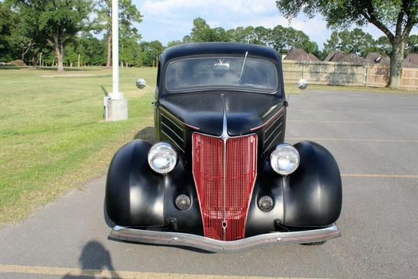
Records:
<instances>
[{"instance_id":1,"label":"curved chrome front bumper of the black vintage car","mask_svg":"<svg viewBox=\"0 0 418 279\"><path fill-rule=\"evenodd\" d=\"M179 232L155 232L143 229L130 229L116 226L109 234L111 239L121 239L141 243L155 243L173 246L187 246L211 252L235 252L268 245L288 243L311 243L325 241L341 236L338 227L333 224L323 229L311 229L299 232L272 232L235 241L219 241L195 234Z\"/></svg>"}]
</instances>

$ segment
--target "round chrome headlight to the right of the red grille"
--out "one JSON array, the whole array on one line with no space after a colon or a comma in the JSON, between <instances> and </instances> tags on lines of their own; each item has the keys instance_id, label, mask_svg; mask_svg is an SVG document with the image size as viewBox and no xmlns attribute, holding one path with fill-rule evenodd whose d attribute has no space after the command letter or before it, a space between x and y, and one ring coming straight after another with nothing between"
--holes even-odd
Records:
<instances>
[{"instance_id":1,"label":"round chrome headlight to the right of the red grille","mask_svg":"<svg viewBox=\"0 0 418 279\"><path fill-rule=\"evenodd\" d=\"M299 152L290 144L279 144L270 154L270 165L278 174L291 174L299 167Z\"/></svg>"}]
</instances>

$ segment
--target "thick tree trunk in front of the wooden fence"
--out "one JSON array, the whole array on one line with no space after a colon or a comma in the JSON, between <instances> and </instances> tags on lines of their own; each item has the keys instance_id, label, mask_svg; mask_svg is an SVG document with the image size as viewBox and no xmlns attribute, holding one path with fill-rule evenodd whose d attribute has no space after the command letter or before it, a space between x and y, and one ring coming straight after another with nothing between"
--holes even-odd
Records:
<instances>
[{"instance_id":1,"label":"thick tree trunk in front of the wooden fence","mask_svg":"<svg viewBox=\"0 0 418 279\"><path fill-rule=\"evenodd\" d=\"M392 41L392 53L390 54L389 75L389 87L392 89L401 88L401 71L404 46L405 42L403 42L402 38L395 37Z\"/></svg>"}]
</instances>

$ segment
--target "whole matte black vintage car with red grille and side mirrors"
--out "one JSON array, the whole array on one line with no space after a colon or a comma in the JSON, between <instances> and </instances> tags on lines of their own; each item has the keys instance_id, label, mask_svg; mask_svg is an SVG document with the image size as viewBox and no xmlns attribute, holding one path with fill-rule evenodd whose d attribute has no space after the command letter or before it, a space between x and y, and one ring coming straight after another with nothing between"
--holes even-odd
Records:
<instances>
[{"instance_id":1,"label":"whole matte black vintage car with red grille and side mirrors","mask_svg":"<svg viewBox=\"0 0 418 279\"><path fill-rule=\"evenodd\" d=\"M109 167L111 238L226 252L341 235L336 161L314 142L284 143L288 103L276 51L170 47L153 105L157 143L134 140Z\"/></svg>"}]
</instances>

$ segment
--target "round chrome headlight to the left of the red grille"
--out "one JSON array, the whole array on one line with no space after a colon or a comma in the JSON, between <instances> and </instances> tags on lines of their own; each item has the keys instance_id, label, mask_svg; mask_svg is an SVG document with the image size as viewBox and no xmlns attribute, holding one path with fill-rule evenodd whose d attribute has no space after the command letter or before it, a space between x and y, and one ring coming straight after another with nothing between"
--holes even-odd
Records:
<instances>
[{"instance_id":1,"label":"round chrome headlight to the left of the red grille","mask_svg":"<svg viewBox=\"0 0 418 279\"><path fill-rule=\"evenodd\" d=\"M159 142L148 152L148 164L159 174L168 174L177 164L177 153L170 144Z\"/></svg>"}]
</instances>

